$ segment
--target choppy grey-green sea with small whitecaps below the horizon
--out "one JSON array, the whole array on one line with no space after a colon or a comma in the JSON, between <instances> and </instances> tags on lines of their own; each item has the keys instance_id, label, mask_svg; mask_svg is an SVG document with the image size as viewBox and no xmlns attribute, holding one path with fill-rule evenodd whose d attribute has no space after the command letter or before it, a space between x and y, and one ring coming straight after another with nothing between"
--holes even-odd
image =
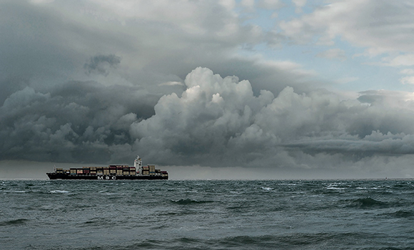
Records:
<instances>
[{"instance_id":1,"label":"choppy grey-green sea with small whitecaps below the horizon","mask_svg":"<svg viewBox=\"0 0 414 250\"><path fill-rule=\"evenodd\" d=\"M0 180L0 249L414 249L414 180Z\"/></svg>"}]
</instances>

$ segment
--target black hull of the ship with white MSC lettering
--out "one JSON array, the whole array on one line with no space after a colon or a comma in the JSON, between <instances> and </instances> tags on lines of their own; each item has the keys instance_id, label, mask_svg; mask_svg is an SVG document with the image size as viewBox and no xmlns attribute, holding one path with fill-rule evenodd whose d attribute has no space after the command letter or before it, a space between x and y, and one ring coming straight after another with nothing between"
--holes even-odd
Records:
<instances>
[{"instance_id":1,"label":"black hull of the ship with white MSC lettering","mask_svg":"<svg viewBox=\"0 0 414 250\"><path fill-rule=\"evenodd\" d=\"M63 180L168 180L168 176L150 176L150 175L84 175L84 174L56 174L46 173L49 179L63 179Z\"/></svg>"}]
</instances>

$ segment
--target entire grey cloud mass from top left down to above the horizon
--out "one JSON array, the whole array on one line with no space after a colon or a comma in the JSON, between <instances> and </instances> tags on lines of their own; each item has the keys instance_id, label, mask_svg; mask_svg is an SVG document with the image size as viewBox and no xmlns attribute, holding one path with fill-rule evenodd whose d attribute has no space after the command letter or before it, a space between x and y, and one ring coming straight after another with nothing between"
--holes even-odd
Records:
<instances>
[{"instance_id":1,"label":"entire grey cloud mass from top left down to above the horizon","mask_svg":"<svg viewBox=\"0 0 414 250\"><path fill-rule=\"evenodd\" d=\"M410 96L345 99L299 64L240 56L285 36L219 2L137 3L1 1L0 161L128 164L138 153L164 165L363 169L410 160Z\"/></svg>"}]
</instances>

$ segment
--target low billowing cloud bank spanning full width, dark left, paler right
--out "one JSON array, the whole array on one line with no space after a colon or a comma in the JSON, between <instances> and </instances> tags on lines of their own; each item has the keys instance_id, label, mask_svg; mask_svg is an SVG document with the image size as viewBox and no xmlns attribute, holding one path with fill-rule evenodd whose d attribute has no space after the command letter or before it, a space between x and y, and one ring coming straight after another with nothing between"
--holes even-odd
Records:
<instances>
[{"instance_id":1,"label":"low billowing cloud bank spanning full width, dark left, paler right","mask_svg":"<svg viewBox=\"0 0 414 250\"><path fill-rule=\"evenodd\" d=\"M414 154L414 103L402 93L342 99L286 87L255 95L249 81L201 67L184 84L153 112L131 87L69 82L47 94L26 87L0 108L0 156L107 163L139 152L161 165L335 169Z\"/></svg>"}]
</instances>

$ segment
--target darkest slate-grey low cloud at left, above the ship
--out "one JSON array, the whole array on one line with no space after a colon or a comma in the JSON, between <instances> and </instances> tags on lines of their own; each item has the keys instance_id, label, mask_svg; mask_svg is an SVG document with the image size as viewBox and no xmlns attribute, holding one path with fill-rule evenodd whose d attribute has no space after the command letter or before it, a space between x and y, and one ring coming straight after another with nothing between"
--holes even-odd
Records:
<instances>
[{"instance_id":1,"label":"darkest slate-grey low cloud at left, above the ship","mask_svg":"<svg viewBox=\"0 0 414 250\"><path fill-rule=\"evenodd\" d=\"M71 81L41 93L27 86L0 108L1 159L106 162L131 144L130 124L153 115L158 97L128 86Z\"/></svg>"}]
</instances>

